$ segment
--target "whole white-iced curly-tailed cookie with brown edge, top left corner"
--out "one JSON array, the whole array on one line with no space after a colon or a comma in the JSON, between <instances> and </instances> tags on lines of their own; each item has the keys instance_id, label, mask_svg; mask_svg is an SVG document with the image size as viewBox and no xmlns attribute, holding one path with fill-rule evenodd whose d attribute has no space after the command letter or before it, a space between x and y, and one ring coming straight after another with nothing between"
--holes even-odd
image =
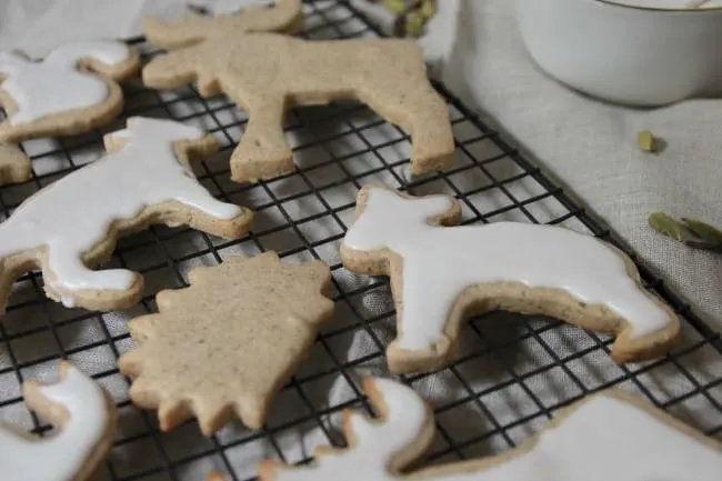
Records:
<instances>
[{"instance_id":1,"label":"whole white-iced curly-tailed cookie with brown edge, top left corner","mask_svg":"<svg viewBox=\"0 0 722 481\"><path fill-rule=\"evenodd\" d=\"M31 61L0 51L0 142L87 132L110 122L123 108L117 81L138 70L139 56L124 43L66 43Z\"/></svg>"}]
</instances>

